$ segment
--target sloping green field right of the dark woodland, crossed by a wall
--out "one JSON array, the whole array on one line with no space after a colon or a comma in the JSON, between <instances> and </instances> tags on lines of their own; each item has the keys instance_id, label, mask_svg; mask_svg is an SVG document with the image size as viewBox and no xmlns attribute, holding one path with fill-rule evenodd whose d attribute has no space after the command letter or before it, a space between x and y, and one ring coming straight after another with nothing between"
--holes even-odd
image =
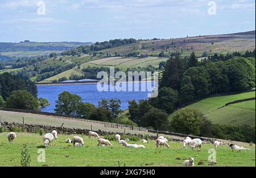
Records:
<instances>
[{"instance_id":1,"label":"sloping green field right of the dark woodland, crossed by a wall","mask_svg":"<svg viewBox=\"0 0 256 178\"><path fill-rule=\"evenodd\" d=\"M226 103L247 98L255 98L255 91L236 95L210 97L188 105L186 108L199 109L216 124L247 124L255 126L255 100L231 104L220 108Z\"/></svg>"}]
</instances>

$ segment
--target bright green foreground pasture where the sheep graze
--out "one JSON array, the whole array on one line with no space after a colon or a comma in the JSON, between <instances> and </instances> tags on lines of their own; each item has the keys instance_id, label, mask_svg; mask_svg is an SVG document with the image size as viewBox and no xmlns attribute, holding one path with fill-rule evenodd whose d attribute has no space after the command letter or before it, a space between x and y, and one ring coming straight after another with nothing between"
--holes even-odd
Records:
<instances>
[{"instance_id":1,"label":"bright green foreground pasture where the sheep graze","mask_svg":"<svg viewBox=\"0 0 256 178\"><path fill-rule=\"evenodd\" d=\"M30 166L168 166L180 167L185 159L195 158L195 166L203 161L208 166L208 150L213 149L212 144L203 144L201 151L183 149L181 142L169 142L170 149L166 147L156 149L155 141L144 143L146 149L131 149L111 141L112 147L97 147L97 139L84 138L84 147L73 147L71 143L64 143L65 139L73 135L58 135L57 141L46 151L46 162L39 163L37 154L43 146L43 136L39 134L17 133L14 143L7 142L7 133L0 133L0 166L20 166L20 152L24 143L30 148ZM81 136L81 135L80 135ZM132 142L131 142L132 143ZM137 144L141 144L137 142ZM216 151L216 165L218 167L255 166L255 147L253 150L231 151L227 145L222 145Z\"/></svg>"}]
</instances>

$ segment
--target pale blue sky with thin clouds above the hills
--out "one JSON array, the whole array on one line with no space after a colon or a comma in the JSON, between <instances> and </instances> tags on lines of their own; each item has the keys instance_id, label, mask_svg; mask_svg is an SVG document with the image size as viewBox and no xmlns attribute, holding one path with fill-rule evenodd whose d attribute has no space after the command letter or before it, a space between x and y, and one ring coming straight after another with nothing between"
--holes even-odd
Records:
<instances>
[{"instance_id":1,"label":"pale blue sky with thin clouds above the hills","mask_svg":"<svg viewBox=\"0 0 256 178\"><path fill-rule=\"evenodd\" d=\"M0 41L170 39L255 30L255 0L0 0Z\"/></svg>"}]
</instances>

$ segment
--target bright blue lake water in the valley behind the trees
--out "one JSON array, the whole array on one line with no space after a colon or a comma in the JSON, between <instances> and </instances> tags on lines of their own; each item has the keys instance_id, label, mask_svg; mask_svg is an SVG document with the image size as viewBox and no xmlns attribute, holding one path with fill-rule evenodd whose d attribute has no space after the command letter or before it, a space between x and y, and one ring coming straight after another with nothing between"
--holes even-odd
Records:
<instances>
[{"instance_id":1,"label":"bright blue lake water in the valley behind the trees","mask_svg":"<svg viewBox=\"0 0 256 178\"><path fill-rule=\"evenodd\" d=\"M143 83L145 84L145 83ZM41 109L43 112L54 112L55 101L58 95L63 91L68 91L71 94L79 95L84 103L92 103L98 105L98 101L101 99L119 99L121 100L121 109L128 109L128 101L136 100L137 102L142 99L147 99L148 94L151 92L141 91L143 89L142 83L134 83L133 86L128 86L126 84L126 91L98 91L97 84L73 84L73 85L49 85L49 86L38 86L38 97L46 98L51 105L46 108ZM149 85L152 87L153 83L150 82ZM110 87L110 86L108 86ZM128 91L129 88L138 87L139 91Z\"/></svg>"}]
</instances>

